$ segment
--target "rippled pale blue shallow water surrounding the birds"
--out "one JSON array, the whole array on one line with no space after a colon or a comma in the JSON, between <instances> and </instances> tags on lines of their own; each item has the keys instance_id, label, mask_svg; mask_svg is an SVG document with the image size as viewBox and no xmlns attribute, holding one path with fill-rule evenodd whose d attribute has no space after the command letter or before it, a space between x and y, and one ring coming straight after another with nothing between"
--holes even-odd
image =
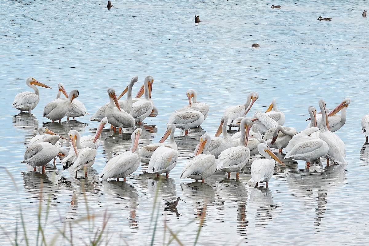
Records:
<instances>
[{"instance_id":1,"label":"rippled pale blue shallow water surrounding the birds","mask_svg":"<svg viewBox=\"0 0 369 246\"><path fill-rule=\"evenodd\" d=\"M34 244L41 198L44 207L50 204L48 240L63 221L77 221L88 213L100 215L94 223L101 226L107 210L111 242L149 244L158 193L155 244L162 244L164 221L175 232L181 229L184 245L193 244L200 223L188 223L204 215L204 206L199 245L366 243L369 145L361 131L369 89L368 19L361 16L366 1L281 1L280 10L265 1L112 4L107 11L105 1L1 1L0 166L16 184L0 169L0 225L7 230L0 233L1 242L14 238L19 229L21 206L28 240ZM194 14L200 15L199 25ZM319 15L332 21L317 21ZM251 48L255 42L259 49ZM28 141L42 125L64 136L72 128L82 135L96 131L98 123L88 122L88 116L61 124L42 118L58 82L67 91L78 89L78 99L93 113L108 100L107 87L118 93L138 75L135 93L149 74L155 79L152 99L159 115L145 119L140 146L159 141L171 112L187 103L187 89L195 89L199 101L211 107L200 128L188 136L176 131L179 159L169 179L159 181L145 173L142 164L126 183L99 181L106 162L130 148L131 129L121 135L104 129L87 179L61 171L60 162L57 170L46 166L44 174L21 163ZM28 76L53 88L40 89L41 100L31 115L11 108L15 94L29 90L24 83ZM225 108L244 103L250 91L260 96L252 112L265 111L275 98L286 115L285 126L298 131L307 125L309 105L318 108L324 98L332 109L350 97L346 124L336 132L346 144L348 165L326 168L322 160L306 170L303 161L286 160L286 167L276 166L269 188L254 188L248 181L249 165L239 180L233 175L228 180L223 173L205 184L180 180L200 136L213 136ZM69 142L62 145L69 147ZM176 197L186 203L181 202L177 212L166 209L163 202ZM75 243L88 241L94 234L88 228L75 225Z\"/></svg>"}]
</instances>

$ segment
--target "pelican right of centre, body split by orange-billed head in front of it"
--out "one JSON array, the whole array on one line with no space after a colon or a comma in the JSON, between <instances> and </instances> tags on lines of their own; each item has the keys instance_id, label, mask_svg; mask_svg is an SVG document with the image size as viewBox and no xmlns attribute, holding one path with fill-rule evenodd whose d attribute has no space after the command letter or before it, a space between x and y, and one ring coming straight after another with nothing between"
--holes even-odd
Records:
<instances>
[{"instance_id":1,"label":"pelican right of centre, body split by orange-billed head in front of it","mask_svg":"<svg viewBox=\"0 0 369 246\"><path fill-rule=\"evenodd\" d=\"M228 123L228 116L223 116L220 119L220 125L218 127L217 132L215 133L215 137L211 138L209 152L211 155L218 158L220 153L228 148L231 148L232 140L231 136L227 132L227 123ZM219 135L222 133L222 136ZM239 141L238 141L239 142ZM197 150L199 150L200 144L198 144L193 152L193 156L196 156Z\"/></svg>"}]
</instances>

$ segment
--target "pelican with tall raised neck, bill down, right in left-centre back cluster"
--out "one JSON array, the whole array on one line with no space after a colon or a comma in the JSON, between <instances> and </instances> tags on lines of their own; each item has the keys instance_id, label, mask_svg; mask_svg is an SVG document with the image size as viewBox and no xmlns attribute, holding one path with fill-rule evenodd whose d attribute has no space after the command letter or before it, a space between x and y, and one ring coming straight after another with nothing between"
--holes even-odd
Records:
<instances>
[{"instance_id":1,"label":"pelican with tall raised neck, bill down, right in left-centre back cluster","mask_svg":"<svg viewBox=\"0 0 369 246\"><path fill-rule=\"evenodd\" d=\"M145 98L132 104L130 114L135 119L135 122L138 122L139 124L141 124L142 121L151 114L152 108L154 107L154 104L150 99L152 83L154 83L154 78L150 75L146 76L144 82Z\"/></svg>"}]
</instances>

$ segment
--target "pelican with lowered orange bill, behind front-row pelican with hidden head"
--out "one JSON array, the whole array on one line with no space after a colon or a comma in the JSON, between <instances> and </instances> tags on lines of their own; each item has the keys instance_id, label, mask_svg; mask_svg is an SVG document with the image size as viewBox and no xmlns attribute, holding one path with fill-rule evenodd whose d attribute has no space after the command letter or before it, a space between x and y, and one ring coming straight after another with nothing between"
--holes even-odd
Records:
<instances>
[{"instance_id":1,"label":"pelican with lowered orange bill, behind front-row pelican with hidden head","mask_svg":"<svg viewBox=\"0 0 369 246\"><path fill-rule=\"evenodd\" d=\"M149 145L142 147L139 150L141 162L149 164L152 154L159 146L165 146L167 148L177 150L177 144L176 144L176 141L174 140L175 131L176 131L176 126L174 124L170 124L166 128L166 132L163 135L163 137L160 139L159 143L151 143ZM164 143L165 140L168 138L168 136L169 136L169 143Z\"/></svg>"}]
</instances>

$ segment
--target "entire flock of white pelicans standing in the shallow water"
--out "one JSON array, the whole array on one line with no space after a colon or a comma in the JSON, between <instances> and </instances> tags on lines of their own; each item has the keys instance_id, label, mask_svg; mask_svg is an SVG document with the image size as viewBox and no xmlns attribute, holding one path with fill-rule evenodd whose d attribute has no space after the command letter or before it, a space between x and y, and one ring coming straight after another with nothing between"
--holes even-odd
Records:
<instances>
[{"instance_id":1,"label":"entire flock of white pelicans standing in the shallow water","mask_svg":"<svg viewBox=\"0 0 369 246\"><path fill-rule=\"evenodd\" d=\"M109 103L103 105L92 117L90 121L99 121L96 134L94 136L80 136L75 130L69 131L69 140L72 143L69 150L63 149L59 142L64 137L55 134L45 127L39 128L39 135L34 136L24 154L24 163L30 164L34 171L36 167L45 165L59 157L63 164L63 170L70 173L85 171L93 165L96 157L96 149L100 145L100 135L105 124L109 123L116 131L118 128L135 128L135 124L141 124L146 117L155 117L158 114L157 108L151 100L152 85L154 79L152 76L146 76L141 89L136 98L132 98L132 87L138 81L138 77L133 77L130 84L117 98L115 90L108 88ZM43 83L38 82L33 77L26 80L33 92L23 92L15 96L13 107L20 111L31 112L39 102L39 90L36 86L50 88ZM63 84L58 84L58 94L55 100L48 103L44 108L43 117L52 121L61 121L65 116L80 117L88 114L85 106L77 101L79 92L72 90L69 94ZM61 93L66 98L61 98ZM124 94L127 94L126 100L119 100ZM144 98L141 96L144 94ZM178 152L174 139L176 128L185 130L185 134L190 128L198 127L206 119L209 111L209 105L197 101L197 94L194 90L186 92L189 104L173 112L169 118L167 130L159 141L138 149L139 136L142 133L141 128L135 129L131 135L132 147L130 151L121 153L109 160L100 174L100 178L121 179L138 169L140 162L148 164L148 172L159 174L169 172L176 166ZM200 138L200 143L196 146L192 160L188 162L182 170L180 179L201 180L211 176L216 170L228 173L238 173L246 165L250 155L261 154L263 159L256 159L251 164L251 182L266 183L272 177L276 161L282 165L284 163L272 152L270 148L279 149L279 153L285 149L284 158L294 160L305 160L307 168L310 162L320 157L327 159L327 166L330 160L335 164L345 164L346 148L344 142L334 134L346 121L346 109L351 103L350 98L345 98L334 110L327 110L325 101L319 100L320 114L310 106L310 123L307 128L297 132L292 127L284 127L285 117L282 111L276 107L276 101L273 100L268 110L263 113L256 111L252 118L247 118L246 114L252 105L259 98L258 93L248 94L247 100L242 105L235 105L225 110L221 118L220 126L215 137L204 134ZM337 114L341 111L341 114ZM239 132L230 136L227 132L228 127L238 127ZM362 129L368 141L369 134L369 115L362 119ZM222 136L220 136L222 134ZM169 137L169 143L165 143Z\"/></svg>"}]
</instances>

